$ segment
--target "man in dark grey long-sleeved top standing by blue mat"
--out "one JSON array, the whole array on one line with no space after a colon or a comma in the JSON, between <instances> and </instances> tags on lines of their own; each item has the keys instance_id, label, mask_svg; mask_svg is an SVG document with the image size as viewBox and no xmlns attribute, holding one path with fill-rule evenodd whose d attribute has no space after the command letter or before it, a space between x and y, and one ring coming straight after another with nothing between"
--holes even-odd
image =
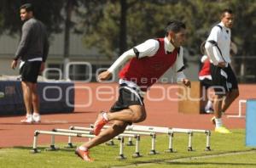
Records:
<instances>
[{"instance_id":1,"label":"man in dark grey long-sleeved top standing by blue mat","mask_svg":"<svg viewBox=\"0 0 256 168\"><path fill-rule=\"evenodd\" d=\"M24 21L21 40L11 63L11 68L15 69L20 59L21 87L26 107L26 117L20 122L40 122L37 81L39 73L44 70L49 42L45 25L34 18L32 4L20 7L20 19Z\"/></svg>"}]
</instances>

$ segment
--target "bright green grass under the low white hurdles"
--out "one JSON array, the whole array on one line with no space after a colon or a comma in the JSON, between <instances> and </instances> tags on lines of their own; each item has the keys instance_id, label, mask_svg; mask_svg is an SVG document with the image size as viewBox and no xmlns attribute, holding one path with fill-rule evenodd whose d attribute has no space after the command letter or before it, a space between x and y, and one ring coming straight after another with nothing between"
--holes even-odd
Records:
<instances>
[{"instance_id":1,"label":"bright green grass under the low white hurdles","mask_svg":"<svg viewBox=\"0 0 256 168\"><path fill-rule=\"evenodd\" d=\"M39 149L42 150L39 154L30 154L32 147L1 148L0 167L256 167L256 150L245 147L244 130L233 130L232 134L213 132L210 152L204 151L206 136L199 133L193 136L192 152L187 151L188 136L184 134L174 135L175 153L164 152L168 148L168 137L159 135L156 140L156 150L160 154L156 155L148 155L151 139L142 137L143 157L137 159L131 157L135 147L125 146L124 153L127 159L116 160L119 154L118 142L116 144L114 146L102 144L92 148L90 155L95 159L92 163L80 160L74 154L74 149L63 148L66 143L58 143L61 149L57 151L44 151L49 144L38 144Z\"/></svg>"}]
</instances>

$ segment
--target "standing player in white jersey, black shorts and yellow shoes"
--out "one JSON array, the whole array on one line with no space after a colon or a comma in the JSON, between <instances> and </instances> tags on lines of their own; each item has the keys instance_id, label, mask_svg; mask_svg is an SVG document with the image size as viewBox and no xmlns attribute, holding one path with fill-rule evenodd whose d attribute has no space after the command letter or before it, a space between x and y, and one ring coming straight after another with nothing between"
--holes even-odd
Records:
<instances>
[{"instance_id":1,"label":"standing player in white jersey, black shorts and yellow shoes","mask_svg":"<svg viewBox=\"0 0 256 168\"><path fill-rule=\"evenodd\" d=\"M205 45L207 55L211 61L212 86L215 96L213 102L215 132L230 133L224 127L221 115L239 96L238 84L230 63L230 28L233 25L234 14L230 9L221 13L221 22L212 28ZM224 99L224 101L222 101Z\"/></svg>"}]
</instances>

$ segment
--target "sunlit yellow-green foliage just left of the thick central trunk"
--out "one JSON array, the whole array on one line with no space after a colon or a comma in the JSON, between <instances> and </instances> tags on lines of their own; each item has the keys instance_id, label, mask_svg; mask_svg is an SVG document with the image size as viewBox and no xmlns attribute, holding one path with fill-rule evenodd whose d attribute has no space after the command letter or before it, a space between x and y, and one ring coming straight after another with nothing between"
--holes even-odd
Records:
<instances>
[{"instance_id":1,"label":"sunlit yellow-green foliage just left of the thick central trunk","mask_svg":"<svg viewBox=\"0 0 256 168\"><path fill-rule=\"evenodd\" d=\"M119 6L110 2L91 6L98 8L84 11L84 44L112 58L119 44Z\"/></svg>"}]
</instances>

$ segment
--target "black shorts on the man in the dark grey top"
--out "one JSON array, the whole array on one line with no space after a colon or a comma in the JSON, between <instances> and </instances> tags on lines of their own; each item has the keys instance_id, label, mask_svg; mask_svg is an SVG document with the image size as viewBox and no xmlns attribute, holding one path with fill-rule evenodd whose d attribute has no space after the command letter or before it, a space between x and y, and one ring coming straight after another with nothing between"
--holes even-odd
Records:
<instances>
[{"instance_id":1,"label":"black shorts on the man in the dark grey top","mask_svg":"<svg viewBox=\"0 0 256 168\"><path fill-rule=\"evenodd\" d=\"M26 61L20 68L21 81L37 83L42 61Z\"/></svg>"}]
</instances>

